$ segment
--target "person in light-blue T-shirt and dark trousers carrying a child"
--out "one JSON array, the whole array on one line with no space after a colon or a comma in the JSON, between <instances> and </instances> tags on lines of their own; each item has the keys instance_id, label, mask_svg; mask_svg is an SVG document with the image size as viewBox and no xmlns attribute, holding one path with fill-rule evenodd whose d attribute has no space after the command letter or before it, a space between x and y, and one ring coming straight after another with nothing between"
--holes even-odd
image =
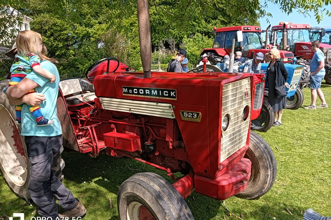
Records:
<instances>
[{"instance_id":1,"label":"person in light-blue T-shirt and dark trousers carrying a child","mask_svg":"<svg viewBox=\"0 0 331 220\"><path fill-rule=\"evenodd\" d=\"M62 145L62 129L56 111L60 78L55 65L47 59L41 62L41 66L55 75L54 83L49 83L47 78L32 72L5 91L10 104L40 104L45 117L54 121L49 126L37 126L27 104L23 105L21 135L24 135L29 156L28 192L38 206L38 213L47 219L82 217L86 213L85 207L51 170L53 155L59 153ZM26 94L32 88L35 88L36 92ZM55 198L65 210L63 214L58 214Z\"/></svg>"}]
</instances>

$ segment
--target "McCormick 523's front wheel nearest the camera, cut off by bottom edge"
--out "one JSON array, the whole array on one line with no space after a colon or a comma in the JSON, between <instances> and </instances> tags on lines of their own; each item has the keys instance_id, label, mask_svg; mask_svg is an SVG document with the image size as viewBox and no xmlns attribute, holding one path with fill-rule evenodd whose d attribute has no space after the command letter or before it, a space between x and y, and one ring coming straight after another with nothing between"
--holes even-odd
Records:
<instances>
[{"instance_id":1,"label":"McCormick 523's front wheel nearest the camera, cut off by bottom edge","mask_svg":"<svg viewBox=\"0 0 331 220\"><path fill-rule=\"evenodd\" d=\"M179 192L154 173L139 173L125 180L117 207L121 220L194 220Z\"/></svg>"}]
</instances>

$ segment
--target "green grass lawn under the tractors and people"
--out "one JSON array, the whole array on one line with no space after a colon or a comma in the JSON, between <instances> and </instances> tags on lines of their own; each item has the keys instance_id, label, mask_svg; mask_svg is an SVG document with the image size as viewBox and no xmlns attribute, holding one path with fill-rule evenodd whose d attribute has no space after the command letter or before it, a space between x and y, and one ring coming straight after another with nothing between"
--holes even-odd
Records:
<instances>
[{"instance_id":1,"label":"green grass lawn under the tractors and people","mask_svg":"<svg viewBox=\"0 0 331 220\"><path fill-rule=\"evenodd\" d=\"M322 87L331 105L331 86ZM224 203L193 192L186 202L195 220L302 220L307 208L331 216L331 107L305 110L310 89L303 93L301 108L284 110L282 126L258 132L277 160L277 178L271 190L258 200L232 197ZM118 187L129 176L148 171L165 176L128 158L90 158L76 152L62 156L66 162L63 182L87 208L85 220L119 220ZM0 177L0 220L19 212L29 220L38 216L36 207L16 197Z\"/></svg>"}]
</instances>

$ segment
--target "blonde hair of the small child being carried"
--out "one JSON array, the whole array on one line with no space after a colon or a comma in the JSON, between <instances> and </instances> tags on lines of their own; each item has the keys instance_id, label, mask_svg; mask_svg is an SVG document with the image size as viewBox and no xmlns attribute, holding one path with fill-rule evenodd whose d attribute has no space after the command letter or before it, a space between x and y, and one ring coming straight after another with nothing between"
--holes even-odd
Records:
<instances>
[{"instance_id":1,"label":"blonde hair of the small child being carried","mask_svg":"<svg viewBox=\"0 0 331 220\"><path fill-rule=\"evenodd\" d=\"M39 44L43 42L41 34L35 31L21 31L16 37L17 54L41 54Z\"/></svg>"}]
</instances>

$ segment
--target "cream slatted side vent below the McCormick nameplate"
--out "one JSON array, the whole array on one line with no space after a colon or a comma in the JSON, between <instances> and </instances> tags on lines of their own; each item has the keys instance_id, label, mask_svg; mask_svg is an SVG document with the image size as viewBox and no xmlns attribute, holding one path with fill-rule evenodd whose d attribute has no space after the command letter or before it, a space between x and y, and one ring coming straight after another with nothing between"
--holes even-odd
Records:
<instances>
[{"instance_id":1,"label":"cream slatted side vent below the McCormick nameplate","mask_svg":"<svg viewBox=\"0 0 331 220\"><path fill-rule=\"evenodd\" d=\"M171 104L159 102L134 101L117 98L100 98L103 109L129 112L142 115L158 116L174 119L175 114Z\"/></svg>"}]
</instances>

